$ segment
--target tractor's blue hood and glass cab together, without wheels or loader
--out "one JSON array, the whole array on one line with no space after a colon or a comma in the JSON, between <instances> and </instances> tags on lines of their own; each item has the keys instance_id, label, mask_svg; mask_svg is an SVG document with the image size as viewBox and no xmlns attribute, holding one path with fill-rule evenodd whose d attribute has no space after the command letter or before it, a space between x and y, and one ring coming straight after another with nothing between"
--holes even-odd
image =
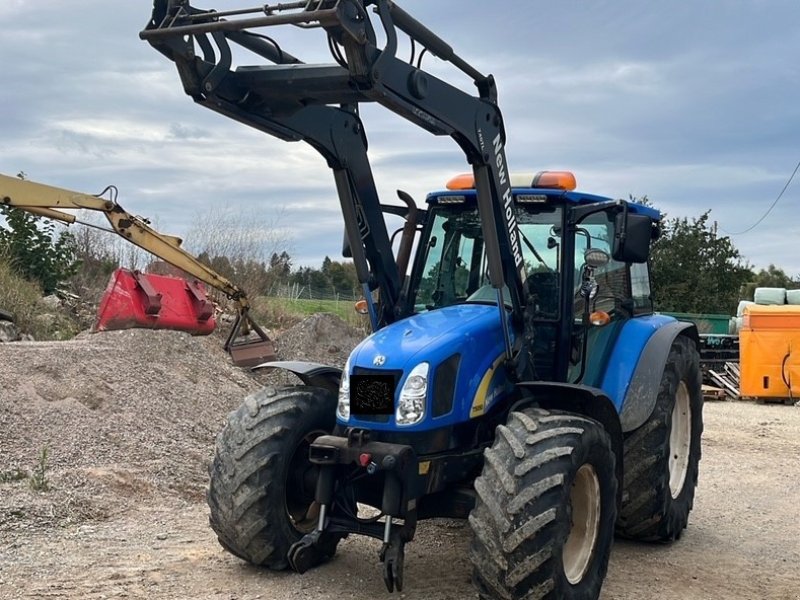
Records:
<instances>
[{"instance_id":1,"label":"tractor's blue hood and glass cab together, without wheels or loader","mask_svg":"<svg viewBox=\"0 0 800 600\"><path fill-rule=\"evenodd\" d=\"M409 316L351 353L339 390L341 427L380 432L387 441L446 432L433 449L447 451L461 443L454 432L472 435L476 419L502 418L519 399L513 383L603 388L623 327L652 313L646 261L659 215L575 187L568 172L512 177L526 273L522 322L507 288L490 281L471 176L428 195L406 282Z\"/></svg>"}]
</instances>

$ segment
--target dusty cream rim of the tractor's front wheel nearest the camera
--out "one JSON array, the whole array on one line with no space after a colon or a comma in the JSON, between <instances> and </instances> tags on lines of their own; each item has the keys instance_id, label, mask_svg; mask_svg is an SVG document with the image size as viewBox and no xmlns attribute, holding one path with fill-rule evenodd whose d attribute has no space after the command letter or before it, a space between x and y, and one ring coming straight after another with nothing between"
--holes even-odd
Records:
<instances>
[{"instance_id":1,"label":"dusty cream rim of the tractor's front wheel nearest the camera","mask_svg":"<svg viewBox=\"0 0 800 600\"><path fill-rule=\"evenodd\" d=\"M589 569L600 529L600 480L592 465L578 469L569 499L572 524L562 560L567 581L575 585Z\"/></svg>"}]
</instances>

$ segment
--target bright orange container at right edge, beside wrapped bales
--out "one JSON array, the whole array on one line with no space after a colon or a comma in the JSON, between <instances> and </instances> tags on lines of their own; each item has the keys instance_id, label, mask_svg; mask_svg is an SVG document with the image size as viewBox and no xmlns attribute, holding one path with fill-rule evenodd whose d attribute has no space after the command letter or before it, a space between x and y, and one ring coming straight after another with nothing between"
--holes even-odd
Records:
<instances>
[{"instance_id":1,"label":"bright orange container at right edge, beside wrapped bales","mask_svg":"<svg viewBox=\"0 0 800 600\"><path fill-rule=\"evenodd\" d=\"M751 305L743 317L739 332L742 396L800 396L800 306Z\"/></svg>"}]
</instances>

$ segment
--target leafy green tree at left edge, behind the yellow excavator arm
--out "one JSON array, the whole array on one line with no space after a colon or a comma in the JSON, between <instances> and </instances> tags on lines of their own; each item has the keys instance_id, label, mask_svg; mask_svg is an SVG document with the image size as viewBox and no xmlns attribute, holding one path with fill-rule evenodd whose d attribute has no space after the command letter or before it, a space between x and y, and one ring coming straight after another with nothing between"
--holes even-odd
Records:
<instances>
[{"instance_id":1,"label":"leafy green tree at left edge, behind the yellow excavator arm","mask_svg":"<svg viewBox=\"0 0 800 600\"><path fill-rule=\"evenodd\" d=\"M19 208L0 206L6 228L0 227L0 250L11 266L45 294L73 276L80 266L75 238L67 231L56 231L49 219L42 219Z\"/></svg>"}]
</instances>

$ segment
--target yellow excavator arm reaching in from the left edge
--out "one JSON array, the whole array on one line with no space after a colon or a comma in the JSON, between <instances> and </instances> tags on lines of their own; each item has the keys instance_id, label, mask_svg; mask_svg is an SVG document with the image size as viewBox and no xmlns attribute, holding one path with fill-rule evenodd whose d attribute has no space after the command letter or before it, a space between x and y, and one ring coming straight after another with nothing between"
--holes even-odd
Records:
<instances>
[{"instance_id":1,"label":"yellow excavator arm reaching in from the left edge","mask_svg":"<svg viewBox=\"0 0 800 600\"><path fill-rule=\"evenodd\" d=\"M244 366L245 363L253 362L254 357L269 357L270 354L274 356L272 342L248 314L250 303L243 289L181 248L182 240L180 238L159 233L150 227L145 219L130 214L115 201L0 174L0 203L35 215L56 219L67 225L81 221L76 215L64 212L65 210L102 212L115 233L164 262L185 271L214 289L220 290L236 304L238 313L236 323L225 344L225 349L231 353L234 362ZM259 335L261 343L267 343L270 348L257 348L254 347L256 344L249 343L250 347L245 351L243 348L245 345L233 343L237 334L244 333L249 328ZM237 357L237 354L247 354L250 358L243 360Z\"/></svg>"}]
</instances>

